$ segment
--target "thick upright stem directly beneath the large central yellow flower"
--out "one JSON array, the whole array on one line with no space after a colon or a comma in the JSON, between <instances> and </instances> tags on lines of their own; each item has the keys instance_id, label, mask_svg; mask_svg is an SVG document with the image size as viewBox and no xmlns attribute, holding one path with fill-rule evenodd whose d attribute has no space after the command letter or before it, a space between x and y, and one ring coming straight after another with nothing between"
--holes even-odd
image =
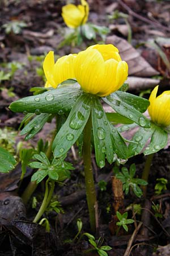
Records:
<instances>
[{"instance_id":1,"label":"thick upright stem directly beneath the large central yellow flower","mask_svg":"<svg viewBox=\"0 0 170 256\"><path fill-rule=\"evenodd\" d=\"M86 126L84 127L83 136L83 160L84 160L84 175L86 184L86 197L88 212L90 216L91 230L95 233L96 230L96 217L95 217L95 204L96 204L96 191L94 183L94 175L91 167L91 127L92 118L91 114L88 118Z\"/></svg>"}]
</instances>

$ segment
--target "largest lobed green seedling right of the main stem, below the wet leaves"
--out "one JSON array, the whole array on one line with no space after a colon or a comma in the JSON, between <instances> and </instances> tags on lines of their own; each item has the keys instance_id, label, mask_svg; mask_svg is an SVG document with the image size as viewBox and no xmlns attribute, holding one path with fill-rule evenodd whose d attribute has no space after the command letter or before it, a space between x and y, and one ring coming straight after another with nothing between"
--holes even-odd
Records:
<instances>
[{"instance_id":1,"label":"largest lobed green seedling right of the main stem, below the wet leaves","mask_svg":"<svg viewBox=\"0 0 170 256\"><path fill-rule=\"evenodd\" d=\"M136 172L135 164L131 164L129 172L126 167L122 167L121 170L122 172L120 172L118 168L114 168L117 179L120 179L123 183L125 194L127 195L129 193L129 188L131 188L137 197L141 197L142 190L139 188L139 185L147 185L147 181L134 177Z\"/></svg>"}]
</instances>

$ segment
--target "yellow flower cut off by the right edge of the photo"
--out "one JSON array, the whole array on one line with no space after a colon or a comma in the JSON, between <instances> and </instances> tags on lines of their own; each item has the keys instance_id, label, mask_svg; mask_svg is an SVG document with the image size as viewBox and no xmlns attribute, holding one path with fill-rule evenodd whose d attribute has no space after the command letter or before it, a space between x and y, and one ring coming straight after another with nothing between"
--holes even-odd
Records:
<instances>
[{"instance_id":1,"label":"yellow flower cut off by the right edge of the photo","mask_svg":"<svg viewBox=\"0 0 170 256\"><path fill-rule=\"evenodd\" d=\"M170 125L170 90L166 90L158 97L158 85L152 90L148 113L154 123L167 127Z\"/></svg>"}]
</instances>

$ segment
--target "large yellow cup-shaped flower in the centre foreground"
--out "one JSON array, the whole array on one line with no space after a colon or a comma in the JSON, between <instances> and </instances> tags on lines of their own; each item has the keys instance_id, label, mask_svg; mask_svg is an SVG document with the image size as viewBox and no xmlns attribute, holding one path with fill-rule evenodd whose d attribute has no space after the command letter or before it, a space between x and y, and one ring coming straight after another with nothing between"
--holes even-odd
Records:
<instances>
[{"instance_id":1,"label":"large yellow cup-shaped flower in the centre foreground","mask_svg":"<svg viewBox=\"0 0 170 256\"><path fill-rule=\"evenodd\" d=\"M112 44L96 44L74 59L75 79L84 92L107 96L118 90L128 76L128 64Z\"/></svg>"}]
</instances>

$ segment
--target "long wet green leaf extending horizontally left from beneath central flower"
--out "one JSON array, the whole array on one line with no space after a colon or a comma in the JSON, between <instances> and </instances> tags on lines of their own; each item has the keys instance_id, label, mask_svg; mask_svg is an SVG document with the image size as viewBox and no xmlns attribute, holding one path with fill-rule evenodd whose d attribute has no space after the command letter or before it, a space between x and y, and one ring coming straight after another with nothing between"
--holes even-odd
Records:
<instances>
[{"instance_id":1,"label":"long wet green leaf extending horizontally left from beneath central flower","mask_svg":"<svg viewBox=\"0 0 170 256\"><path fill-rule=\"evenodd\" d=\"M82 94L78 83L60 85L57 89L29 96L11 103L9 108L13 112L63 114L73 107L75 100Z\"/></svg>"}]
</instances>

